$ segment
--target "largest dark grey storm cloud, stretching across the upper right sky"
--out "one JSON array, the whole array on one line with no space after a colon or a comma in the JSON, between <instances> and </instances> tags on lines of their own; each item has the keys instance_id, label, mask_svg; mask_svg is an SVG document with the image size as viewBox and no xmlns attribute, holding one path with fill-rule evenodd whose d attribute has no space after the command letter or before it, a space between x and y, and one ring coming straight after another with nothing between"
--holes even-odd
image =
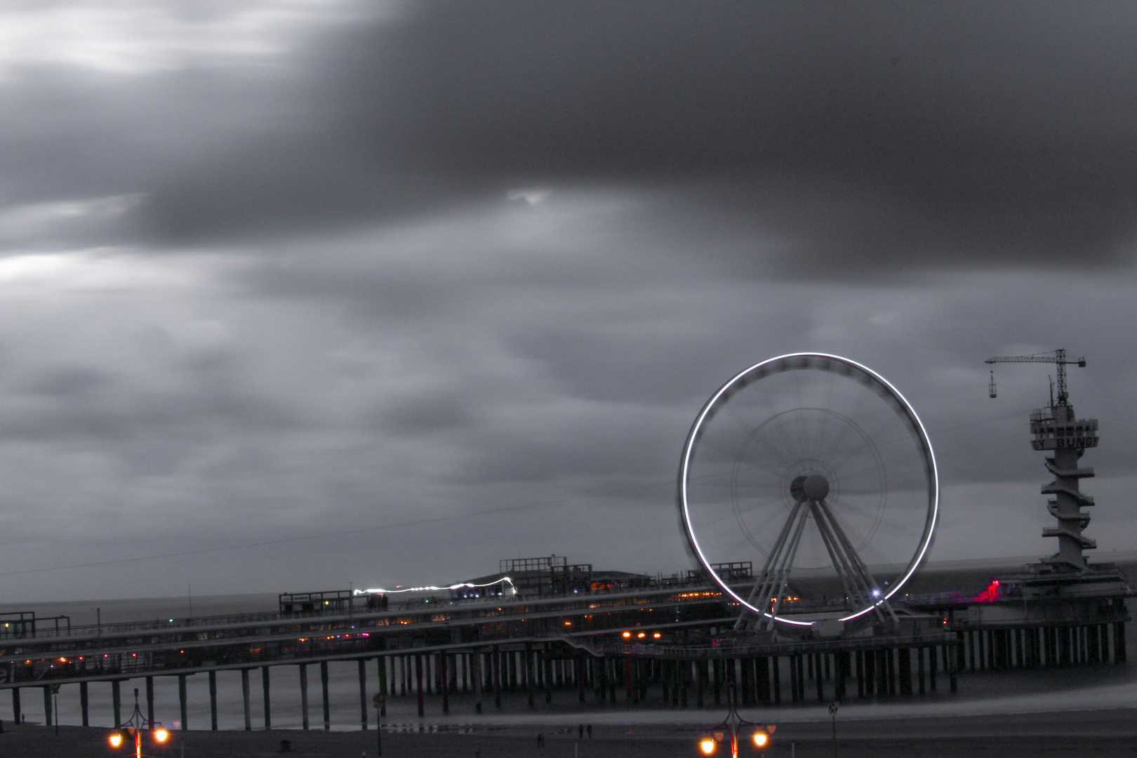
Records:
<instances>
[{"instance_id":1,"label":"largest dark grey storm cloud, stretching across the upper right sky","mask_svg":"<svg viewBox=\"0 0 1137 758\"><path fill-rule=\"evenodd\" d=\"M197 160L149 210L198 239L607 183L782 235L791 270L1110 263L1137 218L1135 25L1105 5L421 2L313 53L318 127Z\"/></svg>"}]
</instances>

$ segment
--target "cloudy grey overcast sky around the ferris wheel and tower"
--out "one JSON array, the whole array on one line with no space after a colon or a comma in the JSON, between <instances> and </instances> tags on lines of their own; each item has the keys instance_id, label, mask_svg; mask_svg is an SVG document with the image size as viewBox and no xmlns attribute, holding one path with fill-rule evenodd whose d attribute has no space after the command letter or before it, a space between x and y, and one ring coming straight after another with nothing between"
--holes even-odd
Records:
<instances>
[{"instance_id":1,"label":"cloudy grey overcast sky around the ferris wheel and tower","mask_svg":"<svg viewBox=\"0 0 1137 758\"><path fill-rule=\"evenodd\" d=\"M1134 549L1135 36L1092 2L5 3L0 602L686 569L687 430L794 351L921 414L935 560L1054 550L1053 367L990 400L982 361L1085 355L1087 534Z\"/></svg>"}]
</instances>

